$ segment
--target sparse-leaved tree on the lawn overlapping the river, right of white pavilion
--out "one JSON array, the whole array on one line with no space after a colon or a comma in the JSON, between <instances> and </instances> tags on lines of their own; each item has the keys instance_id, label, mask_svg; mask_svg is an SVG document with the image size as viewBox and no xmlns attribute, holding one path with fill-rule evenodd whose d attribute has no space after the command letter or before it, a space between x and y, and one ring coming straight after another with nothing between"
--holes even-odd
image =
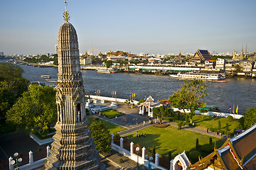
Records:
<instances>
[{"instance_id":1,"label":"sparse-leaved tree on the lawn overlapping the river, right of white pavilion","mask_svg":"<svg viewBox=\"0 0 256 170\"><path fill-rule=\"evenodd\" d=\"M184 81L181 89L178 89L172 96L169 96L169 102L176 108L189 109L190 123L195 115L196 108L203 105L202 100L207 96L206 85L199 79Z\"/></svg>"}]
</instances>

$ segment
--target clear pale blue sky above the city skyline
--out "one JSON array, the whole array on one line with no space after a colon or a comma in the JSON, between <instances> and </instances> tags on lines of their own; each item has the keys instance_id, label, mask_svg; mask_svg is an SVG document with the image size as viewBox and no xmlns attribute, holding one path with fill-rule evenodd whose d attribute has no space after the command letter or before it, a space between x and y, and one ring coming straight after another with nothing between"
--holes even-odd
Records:
<instances>
[{"instance_id":1,"label":"clear pale blue sky above the city skyline","mask_svg":"<svg viewBox=\"0 0 256 170\"><path fill-rule=\"evenodd\" d=\"M55 52L64 0L0 0L4 55ZM79 52L256 52L255 0L69 0Z\"/></svg>"}]
</instances>

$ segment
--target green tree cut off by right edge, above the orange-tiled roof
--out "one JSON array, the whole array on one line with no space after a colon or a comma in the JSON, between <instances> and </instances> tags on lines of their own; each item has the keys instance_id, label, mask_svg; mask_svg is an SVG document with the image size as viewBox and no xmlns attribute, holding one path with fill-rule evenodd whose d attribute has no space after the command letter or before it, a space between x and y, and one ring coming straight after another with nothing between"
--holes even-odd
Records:
<instances>
[{"instance_id":1,"label":"green tree cut off by right edge, above the orange-tiled roof","mask_svg":"<svg viewBox=\"0 0 256 170\"><path fill-rule=\"evenodd\" d=\"M249 108L241 118L240 123L244 129L250 128L256 123L256 108Z\"/></svg>"}]
</instances>

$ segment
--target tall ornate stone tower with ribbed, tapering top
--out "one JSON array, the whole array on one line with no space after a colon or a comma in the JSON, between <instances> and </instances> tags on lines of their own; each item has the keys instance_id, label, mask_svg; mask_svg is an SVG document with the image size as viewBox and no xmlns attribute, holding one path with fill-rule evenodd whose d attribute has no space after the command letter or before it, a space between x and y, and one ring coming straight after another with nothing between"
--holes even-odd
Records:
<instances>
[{"instance_id":1,"label":"tall ornate stone tower with ribbed, tapering top","mask_svg":"<svg viewBox=\"0 0 256 170\"><path fill-rule=\"evenodd\" d=\"M106 169L89 130L77 33L71 23L60 26L57 46L56 134L45 169Z\"/></svg>"}]
</instances>

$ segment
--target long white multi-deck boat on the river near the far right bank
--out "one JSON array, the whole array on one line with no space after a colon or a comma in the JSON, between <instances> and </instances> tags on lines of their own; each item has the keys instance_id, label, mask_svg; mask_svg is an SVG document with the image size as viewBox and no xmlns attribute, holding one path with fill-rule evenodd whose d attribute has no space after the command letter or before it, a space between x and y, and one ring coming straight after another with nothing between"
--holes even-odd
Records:
<instances>
[{"instance_id":1,"label":"long white multi-deck boat on the river near the far right bank","mask_svg":"<svg viewBox=\"0 0 256 170\"><path fill-rule=\"evenodd\" d=\"M203 79L203 80L223 80L226 79L225 74L216 74L216 73L178 73L178 74L169 74L170 77L178 79Z\"/></svg>"}]
</instances>

